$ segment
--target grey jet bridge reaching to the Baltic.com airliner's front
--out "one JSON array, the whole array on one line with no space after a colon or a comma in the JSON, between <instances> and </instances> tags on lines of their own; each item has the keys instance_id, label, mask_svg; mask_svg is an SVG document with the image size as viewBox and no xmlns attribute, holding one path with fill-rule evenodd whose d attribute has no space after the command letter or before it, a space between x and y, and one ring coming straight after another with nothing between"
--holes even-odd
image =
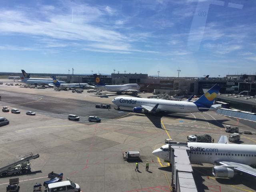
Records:
<instances>
[{"instance_id":1,"label":"grey jet bridge reaching to the Baltic.com airliner's front","mask_svg":"<svg viewBox=\"0 0 256 192\"><path fill-rule=\"evenodd\" d=\"M188 144L169 141L169 160L172 162L172 191L197 192L190 164Z\"/></svg>"}]
</instances>

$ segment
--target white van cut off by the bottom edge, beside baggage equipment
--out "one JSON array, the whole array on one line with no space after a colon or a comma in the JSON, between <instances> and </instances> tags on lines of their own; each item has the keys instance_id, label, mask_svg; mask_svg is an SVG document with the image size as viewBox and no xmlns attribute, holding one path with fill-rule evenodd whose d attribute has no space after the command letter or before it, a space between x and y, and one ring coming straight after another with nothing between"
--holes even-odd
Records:
<instances>
[{"instance_id":1,"label":"white van cut off by the bottom edge, beside baggage equipment","mask_svg":"<svg viewBox=\"0 0 256 192\"><path fill-rule=\"evenodd\" d=\"M80 186L76 183L68 181L61 181L50 183L47 187L47 192L80 192Z\"/></svg>"}]
</instances>

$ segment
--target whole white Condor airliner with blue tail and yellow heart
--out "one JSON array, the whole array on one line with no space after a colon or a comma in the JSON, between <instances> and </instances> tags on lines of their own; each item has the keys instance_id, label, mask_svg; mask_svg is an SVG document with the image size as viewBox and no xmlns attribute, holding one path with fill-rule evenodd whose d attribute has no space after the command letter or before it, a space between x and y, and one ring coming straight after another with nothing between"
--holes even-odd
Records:
<instances>
[{"instance_id":1,"label":"whole white Condor airliner with blue tail and yellow heart","mask_svg":"<svg viewBox=\"0 0 256 192\"><path fill-rule=\"evenodd\" d=\"M215 84L208 92L202 95L194 102L171 101L160 99L134 98L134 97L116 97L112 102L120 108L132 107L133 112L167 112L167 113L194 113L216 110L220 104L212 105L216 98L220 86Z\"/></svg>"}]
</instances>

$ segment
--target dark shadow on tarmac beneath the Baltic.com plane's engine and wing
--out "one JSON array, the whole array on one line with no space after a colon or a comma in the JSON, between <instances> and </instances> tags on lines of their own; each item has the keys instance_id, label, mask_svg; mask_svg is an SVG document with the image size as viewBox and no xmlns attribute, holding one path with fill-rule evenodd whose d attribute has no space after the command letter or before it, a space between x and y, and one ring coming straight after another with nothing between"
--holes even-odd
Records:
<instances>
[{"instance_id":1,"label":"dark shadow on tarmac beneath the Baltic.com plane's engine and wing","mask_svg":"<svg viewBox=\"0 0 256 192\"><path fill-rule=\"evenodd\" d=\"M202 181L204 181L202 176L214 177L212 176L212 167L193 167L193 170L194 170L194 173L193 173L194 180L196 182L196 186L198 187L198 192L204 191L206 189L209 190L208 186L205 186L204 184L202 184ZM224 184L227 186L242 184L244 186L247 186L248 188L256 190L255 178L245 173L242 176L234 176L234 178L215 178L215 179L218 183Z\"/></svg>"}]
</instances>

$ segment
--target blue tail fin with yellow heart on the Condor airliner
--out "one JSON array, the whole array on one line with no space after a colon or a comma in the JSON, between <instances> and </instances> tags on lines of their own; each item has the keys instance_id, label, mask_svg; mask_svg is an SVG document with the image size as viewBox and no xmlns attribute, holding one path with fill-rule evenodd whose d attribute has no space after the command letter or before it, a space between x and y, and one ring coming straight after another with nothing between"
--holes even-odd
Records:
<instances>
[{"instance_id":1,"label":"blue tail fin with yellow heart on the Condor airliner","mask_svg":"<svg viewBox=\"0 0 256 192\"><path fill-rule=\"evenodd\" d=\"M198 107L210 107L212 106L214 99L218 95L220 85L215 84L205 94L203 94L198 100L194 102Z\"/></svg>"}]
</instances>

